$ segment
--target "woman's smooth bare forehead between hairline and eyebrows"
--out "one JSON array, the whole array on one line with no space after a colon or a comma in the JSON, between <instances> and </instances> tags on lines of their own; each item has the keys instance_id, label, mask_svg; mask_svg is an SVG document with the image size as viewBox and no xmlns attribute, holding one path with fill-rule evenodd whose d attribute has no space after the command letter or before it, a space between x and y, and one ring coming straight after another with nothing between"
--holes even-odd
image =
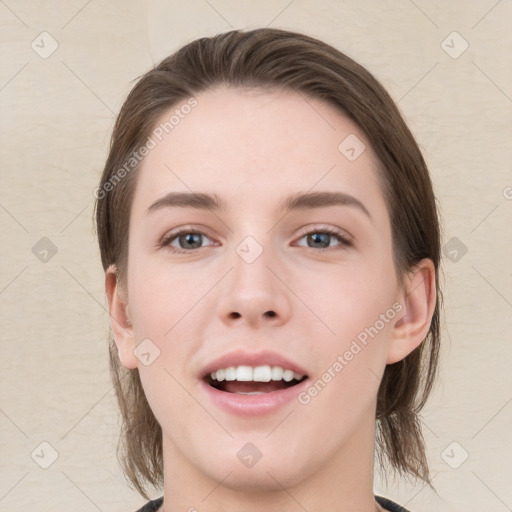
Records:
<instances>
[{"instance_id":1,"label":"woman's smooth bare forehead between hairline and eyebrows","mask_svg":"<svg viewBox=\"0 0 512 512\"><path fill-rule=\"evenodd\" d=\"M381 195L377 159L362 130L324 101L225 86L195 100L193 108L182 102L157 121L134 210L174 190L216 193L239 207L315 189ZM354 151L347 153L347 144Z\"/></svg>"}]
</instances>

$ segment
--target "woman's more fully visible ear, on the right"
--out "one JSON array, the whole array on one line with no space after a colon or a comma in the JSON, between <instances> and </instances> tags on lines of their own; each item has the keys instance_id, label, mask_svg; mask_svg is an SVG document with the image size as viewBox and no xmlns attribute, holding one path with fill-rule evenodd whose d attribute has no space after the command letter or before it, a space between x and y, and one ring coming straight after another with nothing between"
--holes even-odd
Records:
<instances>
[{"instance_id":1,"label":"woman's more fully visible ear, on the right","mask_svg":"<svg viewBox=\"0 0 512 512\"><path fill-rule=\"evenodd\" d=\"M421 260L407 275L399 297L404 315L393 327L387 364L401 361L425 339L436 305L436 274L432 260Z\"/></svg>"}]
</instances>

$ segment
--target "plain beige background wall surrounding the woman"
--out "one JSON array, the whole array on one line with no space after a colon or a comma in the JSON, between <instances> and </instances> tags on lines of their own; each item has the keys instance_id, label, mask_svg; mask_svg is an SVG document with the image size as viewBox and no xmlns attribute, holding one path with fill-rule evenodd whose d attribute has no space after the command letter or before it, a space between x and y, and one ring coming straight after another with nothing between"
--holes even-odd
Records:
<instances>
[{"instance_id":1,"label":"plain beige background wall surrounding the woman","mask_svg":"<svg viewBox=\"0 0 512 512\"><path fill-rule=\"evenodd\" d=\"M266 25L367 66L435 182L446 319L424 423L438 494L376 490L416 512L512 510L511 19L509 0L0 1L0 510L143 503L115 459L93 189L136 77L196 37Z\"/></svg>"}]
</instances>

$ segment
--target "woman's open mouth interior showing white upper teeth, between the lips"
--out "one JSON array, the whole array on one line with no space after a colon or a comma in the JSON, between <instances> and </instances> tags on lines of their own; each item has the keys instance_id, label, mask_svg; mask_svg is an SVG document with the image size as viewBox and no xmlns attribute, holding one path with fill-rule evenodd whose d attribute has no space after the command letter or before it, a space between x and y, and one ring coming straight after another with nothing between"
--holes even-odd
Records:
<instances>
[{"instance_id":1,"label":"woman's open mouth interior showing white upper teeth, between the lips","mask_svg":"<svg viewBox=\"0 0 512 512\"><path fill-rule=\"evenodd\" d=\"M281 366L231 366L204 376L205 382L219 391L240 395L261 395L282 391L307 379Z\"/></svg>"}]
</instances>

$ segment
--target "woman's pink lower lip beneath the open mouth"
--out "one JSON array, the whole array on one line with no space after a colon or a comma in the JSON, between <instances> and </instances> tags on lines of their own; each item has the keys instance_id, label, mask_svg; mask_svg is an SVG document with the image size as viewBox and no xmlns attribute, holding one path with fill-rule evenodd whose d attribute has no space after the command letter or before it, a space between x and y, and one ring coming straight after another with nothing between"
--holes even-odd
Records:
<instances>
[{"instance_id":1,"label":"woman's pink lower lip beneath the open mouth","mask_svg":"<svg viewBox=\"0 0 512 512\"><path fill-rule=\"evenodd\" d=\"M241 395L220 391L202 382L209 399L220 409L238 416L264 416L278 411L286 404L297 399L297 395L308 386L309 379L304 379L291 388L262 393L261 395Z\"/></svg>"}]
</instances>

